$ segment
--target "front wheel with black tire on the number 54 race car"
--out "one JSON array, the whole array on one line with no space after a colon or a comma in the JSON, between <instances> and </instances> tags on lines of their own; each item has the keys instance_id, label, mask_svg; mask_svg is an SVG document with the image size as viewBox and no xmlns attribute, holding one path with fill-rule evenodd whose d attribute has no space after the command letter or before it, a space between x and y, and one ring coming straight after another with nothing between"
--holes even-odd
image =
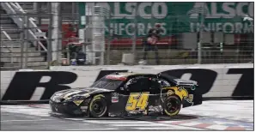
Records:
<instances>
[{"instance_id":1,"label":"front wheel with black tire on the number 54 race car","mask_svg":"<svg viewBox=\"0 0 256 132\"><path fill-rule=\"evenodd\" d=\"M94 96L88 105L89 117L105 117L107 115L107 100L104 96Z\"/></svg>"}]
</instances>

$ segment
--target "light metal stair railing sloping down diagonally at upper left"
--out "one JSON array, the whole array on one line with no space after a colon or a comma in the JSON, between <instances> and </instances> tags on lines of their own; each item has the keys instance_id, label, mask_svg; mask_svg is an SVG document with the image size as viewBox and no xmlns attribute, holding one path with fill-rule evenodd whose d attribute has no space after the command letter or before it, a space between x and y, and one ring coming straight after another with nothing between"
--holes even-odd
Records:
<instances>
[{"instance_id":1,"label":"light metal stair railing sloping down diagonally at upper left","mask_svg":"<svg viewBox=\"0 0 256 132\"><path fill-rule=\"evenodd\" d=\"M23 28L25 23L19 16L19 14L26 15L26 12L21 8L19 3L1 3L1 5L3 9L5 9L6 12L10 15L10 18L12 18L12 20L15 21L15 24L17 24L18 27ZM40 42L40 40L35 35L35 33L43 33L43 32L34 23L34 19L32 17L29 17L27 21L28 21L28 25L27 25L28 34L26 36L27 39L35 39L36 41L34 41L34 46L40 46L43 48L44 51L47 51L46 47ZM47 39L46 36L43 36L43 38ZM39 45L36 45L36 42L38 42Z\"/></svg>"}]
</instances>

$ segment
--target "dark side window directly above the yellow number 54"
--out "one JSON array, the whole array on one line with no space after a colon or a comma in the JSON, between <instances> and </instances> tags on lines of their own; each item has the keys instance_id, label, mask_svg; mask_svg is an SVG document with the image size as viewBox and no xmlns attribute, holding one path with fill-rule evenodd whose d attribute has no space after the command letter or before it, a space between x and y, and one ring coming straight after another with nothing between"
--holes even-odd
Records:
<instances>
[{"instance_id":1,"label":"dark side window directly above the yellow number 54","mask_svg":"<svg viewBox=\"0 0 256 132\"><path fill-rule=\"evenodd\" d=\"M147 92L149 91L149 78L132 78L131 80L127 81L126 89L130 93Z\"/></svg>"}]
</instances>

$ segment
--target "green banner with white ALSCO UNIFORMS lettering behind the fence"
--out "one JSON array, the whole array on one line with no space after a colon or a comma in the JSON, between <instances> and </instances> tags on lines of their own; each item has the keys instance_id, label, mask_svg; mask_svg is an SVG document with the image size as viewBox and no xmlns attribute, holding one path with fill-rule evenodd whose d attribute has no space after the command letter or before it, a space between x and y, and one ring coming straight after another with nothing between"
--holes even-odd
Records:
<instances>
[{"instance_id":1,"label":"green banner with white ALSCO UNIFORMS lettering behind the fence","mask_svg":"<svg viewBox=\"0 0 256 132\"><path fill-rule=\"evenodd\" d=\"M85 3L79 3L85 4ZM199 32L204 14L204 31L223 33L253 33L250 23L243 21L245 15L254 16L253 3L93 3L109 10L106 34L114 33L131 38L135 19L137 36L143 37L155 23L161 23L164 38L177 33ZM80 6L84 7L84 6ZM137 7L137 15L136 14ZM81 10L81 8L80 8ZM82 9L84 12L85 9ZM81 11L80 11L81 12ZM111 27L108 31L108 26Z\"/></svg>"}]
</instances>

